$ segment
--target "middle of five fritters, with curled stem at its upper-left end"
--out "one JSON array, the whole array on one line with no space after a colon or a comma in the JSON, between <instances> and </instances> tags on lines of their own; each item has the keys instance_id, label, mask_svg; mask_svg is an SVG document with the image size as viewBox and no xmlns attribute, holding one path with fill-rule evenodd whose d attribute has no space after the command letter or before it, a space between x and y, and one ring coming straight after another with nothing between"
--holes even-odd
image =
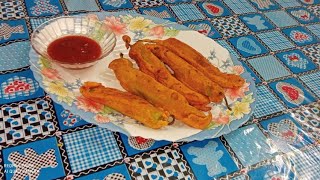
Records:
<instances>
[{"instance_id":1,"label":"middle of five fritters, with curled stem at its upper-left end","mask_svg":"<svg viewBox=\"0 0 320 180\"><path fill-rule=\"evenodd\" d=\"M209 111L211 109L206 106L210 103L206 96L191 90L172 76L163 62L147 49L143 42L136 42L130 45L130 37L128 36L123 36L123 40L126 42L126 45L130 47L129 56L137 62L140 71L152 76L164 86L176 90L187 99L190 105L197 109L203 111Z\"/></svg>"}]
</instances>

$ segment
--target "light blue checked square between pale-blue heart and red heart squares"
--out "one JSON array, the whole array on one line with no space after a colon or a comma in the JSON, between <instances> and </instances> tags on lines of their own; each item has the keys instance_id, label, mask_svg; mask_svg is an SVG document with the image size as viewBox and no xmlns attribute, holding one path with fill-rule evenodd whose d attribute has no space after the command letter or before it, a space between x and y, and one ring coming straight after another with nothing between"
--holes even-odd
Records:
<instances>
[{"instance_id":1,"label":"light blue checked square between pale-blue heart and red heart squares","mask_svg":"<svg viewBox=\"0 0 320 180\"><path fill-rule=\"evenodd\" d=\"M263 43L265 43L272 51L279 51L293 48L294 45L279 31L271 31L257 34Z\"/></svg>"}]
</instances>

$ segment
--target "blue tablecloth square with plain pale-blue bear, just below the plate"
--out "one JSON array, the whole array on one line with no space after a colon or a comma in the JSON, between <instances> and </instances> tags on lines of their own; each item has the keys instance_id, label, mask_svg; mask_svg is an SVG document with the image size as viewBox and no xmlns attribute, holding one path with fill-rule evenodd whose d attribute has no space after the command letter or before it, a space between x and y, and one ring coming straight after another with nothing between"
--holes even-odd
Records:
<instances>
[{"instance_id":1,"label":"blue tablecloth square with plain pale-blue bear, just below the plate","mask_svg":"<svg viewBox=\"0 0 320 180\"><path fill-rule=\"evenodd\" d=\"M238 170L219 138L194 141L180 149L198 179L215 179Z\"/></svg>"}]
</instances>

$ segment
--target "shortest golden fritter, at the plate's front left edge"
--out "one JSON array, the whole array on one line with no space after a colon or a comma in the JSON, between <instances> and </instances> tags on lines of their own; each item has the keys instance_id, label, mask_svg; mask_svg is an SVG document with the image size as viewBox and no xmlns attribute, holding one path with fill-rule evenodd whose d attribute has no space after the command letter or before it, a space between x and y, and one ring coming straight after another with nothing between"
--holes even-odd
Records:
<instances>
[{"instance_id":1,"label":"shortest golden fritter, at the plate's front left edge","mask_svg":"<svg viewBox=\"0 0 320 180\"><path fill-rule=\"evenodd\" d=\"M85 82L80 87L80 92L84 97L106 105L141 122L147 127L159 129L169 123L169 114L167 112L156 108L145 99L129 92L104 87L101 83L96 82Z\"/></svg>"}]
</instances>

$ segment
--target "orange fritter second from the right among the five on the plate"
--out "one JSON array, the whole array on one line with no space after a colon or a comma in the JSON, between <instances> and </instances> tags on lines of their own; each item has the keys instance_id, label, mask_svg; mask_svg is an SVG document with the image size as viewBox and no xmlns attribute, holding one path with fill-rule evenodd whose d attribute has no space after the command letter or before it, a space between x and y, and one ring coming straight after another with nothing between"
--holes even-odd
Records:
<instances>
[{"instance_id":1,"label":"orange fritter second from the right among the five on the plate","mask_svg":"<svg viewBox=\"0 0 320 180\"><path fill-rule=\"evenodd\" d=\"M207 96L213 102L220 103L222 101L224 98L223 88L212 82L181 57L162 45L146 44L146 47L167 64L173 70L174 76L185 85Z\"/></svg>"}]
</instances>

